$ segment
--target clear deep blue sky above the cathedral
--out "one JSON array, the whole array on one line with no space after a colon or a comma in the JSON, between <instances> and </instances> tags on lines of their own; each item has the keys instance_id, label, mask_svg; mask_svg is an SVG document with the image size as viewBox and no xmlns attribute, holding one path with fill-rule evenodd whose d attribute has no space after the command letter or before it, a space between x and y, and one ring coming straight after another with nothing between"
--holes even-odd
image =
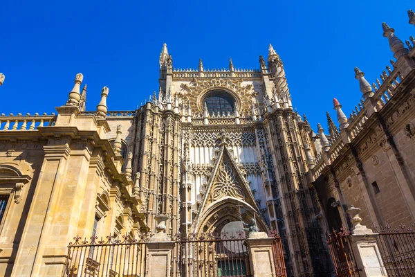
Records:
<instances>
[{"instance_id":1,"label":"clear deep blue sky above the cathedral","mask_svg":"<svg viewBox=\"0 0 415 277\"><path fill-rule=\"evenodd\" d=\"M136 109L158 89L166 42L174 67L258 69L273 44L293 105L312 127L335 119L333 97L349 114L362 97L354 66L374 82L393 58L382 22L415 36L400 1L23 1L0 8L0 113L50 114L64 105L75 74L95 110L109 87L110 110Z\"/></svg>"}]
</instances>

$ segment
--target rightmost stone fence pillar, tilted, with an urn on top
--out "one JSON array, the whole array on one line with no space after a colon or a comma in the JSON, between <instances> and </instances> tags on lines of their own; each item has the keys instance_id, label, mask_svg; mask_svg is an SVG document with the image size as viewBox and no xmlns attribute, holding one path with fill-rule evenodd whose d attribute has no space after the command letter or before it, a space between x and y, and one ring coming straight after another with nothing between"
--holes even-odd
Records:
<instances>
[{"instance_id":1,"label":"rightmost stone fence pillar, tilted, with an urn on top","mask_svg":"<svg viewBox=\"0 0 415 277\"><path fill-rule=\"evenodd\" d=\"M349 236L351 249L353 251L356 265L358 266L361 277L380 277L387 276L386 269L383 265L382 257L376 238L378 233L374 233L364 225L360 225L362 219L358 213L360 208L351 206L347 213L352 217L353 230Z\"/></svg>"}]
</instances>

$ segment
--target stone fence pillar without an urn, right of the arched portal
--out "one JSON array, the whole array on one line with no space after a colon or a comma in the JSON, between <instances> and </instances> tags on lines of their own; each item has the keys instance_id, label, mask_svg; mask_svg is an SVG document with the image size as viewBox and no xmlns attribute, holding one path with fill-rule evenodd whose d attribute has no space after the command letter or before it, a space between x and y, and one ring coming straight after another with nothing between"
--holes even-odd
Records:
<instances>
[{"instance_id":1,"label":"stone fence pillar without an urn, right of the arched portal","mask_svg":"<svg viewBox=\"0 0 415 277\"><path fill-rule=\"evenodd\" d=\"M250 232L246 240L250 256L250 268L253 277L274 277L275 265L273 257L274 238L268 238L265 232Z\"/></svg>"}]
</instances>

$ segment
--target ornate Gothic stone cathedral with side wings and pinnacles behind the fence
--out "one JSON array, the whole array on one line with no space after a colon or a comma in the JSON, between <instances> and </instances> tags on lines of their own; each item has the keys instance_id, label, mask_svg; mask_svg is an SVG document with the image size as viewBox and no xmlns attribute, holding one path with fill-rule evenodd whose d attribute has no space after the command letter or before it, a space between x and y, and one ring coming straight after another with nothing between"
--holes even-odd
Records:
<instances>
[{"instance_id":1,"label":"ornate Gothic stone cathedral with side wings and pinnacles behind the fence","mask_svg":"<svg viewBox=\"0 0 415 277\"><path fill-rule=\"evenodd\" d=\"M415 40L382 27L391 66L373 84L355 69L362 101L346 116L334 99L326 134L293 110L271 45L259 69L212 70L176 69L165 44L158 93L135 111L108 111L107 87L87 110L79 73L56 114L2 114L0 276L60 276L77 235L187 238L252 219L281 235L288 276L330 276L326 233L352 229L351 205L367 226L413 224Z\"/></svg>"}]
</instances>

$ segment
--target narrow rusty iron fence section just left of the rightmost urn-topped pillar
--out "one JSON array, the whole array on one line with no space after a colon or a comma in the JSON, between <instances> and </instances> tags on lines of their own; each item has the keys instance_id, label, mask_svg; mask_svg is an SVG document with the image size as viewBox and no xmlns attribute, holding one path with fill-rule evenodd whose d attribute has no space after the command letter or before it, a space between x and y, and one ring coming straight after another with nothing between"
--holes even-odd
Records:
<instances>
[{"instance_id":1,"label":"narrow rusty iron fence section just left of the rightmost urn-topped pillar","mask_svg":"<svg viewBox=\"0 0 415 277\"><path fill-rule=\"evenodd\" d=\"M353 256L353 249L349 242L349 232L342 228L340 232L333 230L329 235L327 244L329 244L331 259L338 277L358 277L360 276L356 260Z\"/></svg>"}]
</instances>

